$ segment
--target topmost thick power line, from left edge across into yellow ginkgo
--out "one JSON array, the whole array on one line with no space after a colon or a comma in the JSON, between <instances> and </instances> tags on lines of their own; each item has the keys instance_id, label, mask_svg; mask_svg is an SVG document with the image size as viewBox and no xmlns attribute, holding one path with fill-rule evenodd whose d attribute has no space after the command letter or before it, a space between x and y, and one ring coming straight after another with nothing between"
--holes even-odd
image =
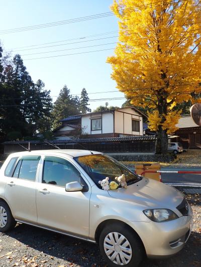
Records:
<instances>
[{"instance_id":1,"label":"topmost thick power line, from left edge across into yellow ginkgo","mask_svg":"<svg viewBox=\"0 0 201 267\"><path fill-rule=\"evenodd\" d=\"M180 0L180 1L176 2L176 3L174 1L172 1L172 2L169 2L167 4L178 4L178 3L184 2L184 1L186 1L186 0ZM150 8L157 7L157 4L159 4L159 3L161 4L161 1L152 3ZM128 13L128 12L133 12L133 11L138 11L138 10L143 10L143 9L149 8L147 6L150 6L150 4L142 5L142 6L135 7L135 8L123 9L123 10L119 10L119 11L120 12L122 11L125 14L125 13ZM161 6L161 5L158 5L158 6ZM52 22L52 23L47 23L47 24L39 24L39 25L33 25L33 26L27 26L27 27L21 27L21 28L7 29L7 30L0 31L0 33L1 34L10 34L10 33L16 33L16 32L37 30L37 29L53 27L53 26L59 26L59 25L64 25L64 24L83 22L83 21L94 20L94 19L99 19L99 18L106 18L106 17L110 17L110 16L115 16L118 13L119 12L100 13L100 14L90 15L90 16L86 16L86 17L79 17L79 18L75 18L75 19Z\"/></svg>"}]
</instances>

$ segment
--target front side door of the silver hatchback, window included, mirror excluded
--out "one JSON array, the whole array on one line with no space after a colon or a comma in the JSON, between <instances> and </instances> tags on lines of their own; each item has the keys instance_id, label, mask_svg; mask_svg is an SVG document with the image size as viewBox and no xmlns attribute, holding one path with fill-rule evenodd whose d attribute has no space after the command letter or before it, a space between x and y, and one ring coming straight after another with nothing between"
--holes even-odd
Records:
<instances>
[{"instance_id":1,"label":"front side door of the silver hatchback, window included, mirror excluded","mask_svg":"<svg viewBox=\"0 0 201 267\"><path fill-rule=\"evenodd\" d=\"M45 156L40 176L36 190L38 224L88 236L91 189L75 165L61 157ZM86 190L66 192L66 183L73 181L84 185Z\"/></svg>"}]
</instances>

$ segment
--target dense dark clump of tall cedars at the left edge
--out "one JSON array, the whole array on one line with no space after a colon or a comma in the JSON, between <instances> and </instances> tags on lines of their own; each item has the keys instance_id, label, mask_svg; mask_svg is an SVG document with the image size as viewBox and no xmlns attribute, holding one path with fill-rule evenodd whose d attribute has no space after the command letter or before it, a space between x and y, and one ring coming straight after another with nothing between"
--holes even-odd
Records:
<instances>
[{"instance_id":1,"label":"dense dark clump of tall cedars at the left edge","mask_svg":"<svg viewBox=\"0 0 201 267\"><path fill-rule=\"evenodd\" d=\"M0 138L16 140L50 130L50 91L35 85L20 55L4 66L0 78ZM41 121L43 120L43 121ZM46 125L46 126L45 126Z\"/></svg>"}]
</instances>

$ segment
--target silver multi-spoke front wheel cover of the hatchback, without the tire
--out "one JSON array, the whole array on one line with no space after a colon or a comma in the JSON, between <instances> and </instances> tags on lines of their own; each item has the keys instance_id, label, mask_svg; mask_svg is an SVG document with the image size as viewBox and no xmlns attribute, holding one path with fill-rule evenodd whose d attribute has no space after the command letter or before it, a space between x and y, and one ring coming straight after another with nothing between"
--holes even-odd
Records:
<instances>
[{"instance_id":1,"label":"silver multi-spoke front wheel cover of the hatchback, without the tire","mask_svg":"<svg viewBox=\"0 0 201 267\"><path fill-rule=\"evenodd\" d=\"M126 265L132 258L131 244L123 234L118 232L107 234L104 249L109 259L118 265Z\"/></svg>"}]
</instances>

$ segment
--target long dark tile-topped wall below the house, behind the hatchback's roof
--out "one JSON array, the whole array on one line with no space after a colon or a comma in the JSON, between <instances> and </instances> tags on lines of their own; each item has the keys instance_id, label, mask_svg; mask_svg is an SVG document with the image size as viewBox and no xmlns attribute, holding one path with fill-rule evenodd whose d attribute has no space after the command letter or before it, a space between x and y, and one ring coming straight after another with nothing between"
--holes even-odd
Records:
<instances>
[{"instance_id":1,"label":"long dark tile-topped wall below the house, behind the hatchback's roof","mask_svg":"<svg viewBox=\"0 0 201 267\"><path fill-rule=\"evenodd\" d=\"M61 149L86 149L105 153L131 152L131 153L154 153L156 138L154 136L128 136L114 138L92 138L92 139L67 139L51 140ZM29 141L4 142L4 154L24 151L19 144L28 148ZM45 141L30 141L31 150L55 149Z\"/></svg>"}]
</instances>

